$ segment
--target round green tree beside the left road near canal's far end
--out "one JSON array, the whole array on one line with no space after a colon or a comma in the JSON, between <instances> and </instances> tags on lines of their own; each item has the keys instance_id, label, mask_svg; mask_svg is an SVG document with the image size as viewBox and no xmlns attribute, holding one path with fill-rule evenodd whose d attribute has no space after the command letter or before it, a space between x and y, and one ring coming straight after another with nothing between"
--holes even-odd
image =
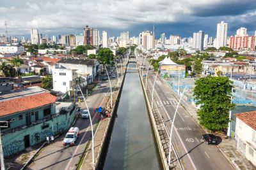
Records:
<instances>
[{"instance_id":1,"label":"round green tree beside the left road near canal's far end","mask_svg":"<svg viewBox=\"0 0 256 170\"><path fill-rule=\"evenodd\" d=\"M114 55L113 52L109 48L100 48L97 59L100 61L101 64L110 64L113 59Z\"/></svg>"}]
</instances>

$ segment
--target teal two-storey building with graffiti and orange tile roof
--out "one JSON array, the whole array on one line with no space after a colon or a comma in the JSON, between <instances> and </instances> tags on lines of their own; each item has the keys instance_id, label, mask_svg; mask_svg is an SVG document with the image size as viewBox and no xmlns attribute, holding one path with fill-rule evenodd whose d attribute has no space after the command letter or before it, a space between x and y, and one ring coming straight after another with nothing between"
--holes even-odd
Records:
<instances>
[{"instance_id":1,"label":"teal two-storey building with graffiti and orange tile roof","mask_svg":"<svg viewBox=\"0 0 256 170\"><path fill-rule=\"evenodd\" d=\"M1 128L4 157L66 131L74 110L74 103L56 103L56 97L40 87L1 93L0 121L7 124Z\"/></svg>"}]
</instances>

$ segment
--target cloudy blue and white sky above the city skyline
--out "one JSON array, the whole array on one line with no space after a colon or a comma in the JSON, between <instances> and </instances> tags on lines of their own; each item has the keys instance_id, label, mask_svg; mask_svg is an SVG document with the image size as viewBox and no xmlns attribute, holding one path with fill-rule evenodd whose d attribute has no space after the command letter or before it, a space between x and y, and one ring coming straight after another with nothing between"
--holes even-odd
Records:
<instances>
[{"instance_id":1,"label":"cloudy blue and white sky above the city skyline","mask_svg":"<svg viewBox=\"0 0 256 170\"><path fill-rule=\"evenodd\" d=\"M228 23L228 36L246 27L250 35L256 30L255 0L8 0L0 1L0 34L7 21L8 34L29 36L35 28L49 36L83 33L85 25L108 36L129 31L138 36L152 31L156 38L179 34L193 36L204 31L216 36L216 25Z\"/></svg>"}]
</instances>

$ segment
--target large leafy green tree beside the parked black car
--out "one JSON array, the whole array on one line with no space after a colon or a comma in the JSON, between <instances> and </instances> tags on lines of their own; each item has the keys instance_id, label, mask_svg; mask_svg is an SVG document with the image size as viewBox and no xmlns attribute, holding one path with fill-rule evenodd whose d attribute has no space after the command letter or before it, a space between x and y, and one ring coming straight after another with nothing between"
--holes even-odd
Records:
<instances>
[{"instance_id":1,"label":"large leafy green tree beside the parked black car","mask_svg":"<svg viewBox=\"0 0 256 170\"><path fill-rule=\"evenodd\" d=\"M223 131L228 127L228 111L233 110L231 103L232 81L225 76L207 76L195 82L193 96L196 104L200 104L198 120L210 131Z\"/></svg>"}]
</instances>

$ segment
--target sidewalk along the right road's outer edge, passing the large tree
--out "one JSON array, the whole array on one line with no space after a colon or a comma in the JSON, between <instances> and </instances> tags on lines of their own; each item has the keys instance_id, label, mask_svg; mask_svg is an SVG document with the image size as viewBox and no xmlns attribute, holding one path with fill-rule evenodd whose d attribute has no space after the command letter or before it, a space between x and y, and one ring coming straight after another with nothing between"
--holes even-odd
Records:
<instances>
[{"instance_id":1,"label":"sidewalk along the right road's outer edge, passing the large tree","mask_svg":"<svg viewBox=\"0 0 256 170\"><path fill-rule=\"evenodd\" d=\"M165 82L165 80L163 80L163 78L159 78L166 86L168 86L170 88L170 91L173 93L173 96L175 96L175 98L177 100L179 100L179 96L178 94L176 94L172 88L167 85L167 83ZM184 101L183 99L180 101L180 104L184 107L185 110L188 111L188 113L191 115L191 117L193 117L193 119L198 122L198 117L197 117L197 109L195 108L195 106L193 106L191 103L188 103L186 101ZM218 145L218 148L220 150L221 153L223 153L223 155L226 157L226 159L230 162L230 164L232 164L232 166L235 169L241 169L241 170L253 170L255 169L255 167L253 167L252 163L250 163L240 152L237 151L236 147L237 147L237 143L235 141L234 138L227 138L227 136L225 134L218 134L218 136L221 137L222 141L221 143Z\"/></svg>"}]
</instances>

